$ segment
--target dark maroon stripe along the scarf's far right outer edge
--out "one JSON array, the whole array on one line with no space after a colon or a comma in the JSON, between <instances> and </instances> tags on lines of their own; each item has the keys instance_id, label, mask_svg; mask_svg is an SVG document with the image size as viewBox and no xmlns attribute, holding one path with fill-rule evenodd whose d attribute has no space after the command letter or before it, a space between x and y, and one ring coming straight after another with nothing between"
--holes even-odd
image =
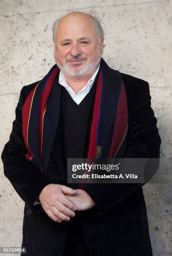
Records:
<instances>
[{"instance_id":1,"label":"dark maroon stripe along the scarf's far right outer edge","mask_svg":"<svg viewBox=\"0 0 172 256\"><path fill-rule=\"evenodd\" d=\"M121 93L119 96L119 102L116 112L116 120L114 125L114 132L112 136L111 148L109 151L109 158L114 158L124 140L128 127L128 111L127 100L124 83L121 87ZM118 136L116 136L118 135Z\"/></svg>"}]
</instances>

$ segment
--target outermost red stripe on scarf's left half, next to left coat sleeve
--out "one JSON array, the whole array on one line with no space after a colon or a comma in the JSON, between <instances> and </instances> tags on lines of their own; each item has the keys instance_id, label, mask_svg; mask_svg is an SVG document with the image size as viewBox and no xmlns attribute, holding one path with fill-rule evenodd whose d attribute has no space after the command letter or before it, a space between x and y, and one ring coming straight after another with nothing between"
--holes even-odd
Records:
<instances>
[{"instance_id":1,"label":"outermost red stripe on scarf's left half, next to left coat sleeve","mask_svg":"<svg viewBox=\"0 0 172 256\"><path fill-rule=\"evenodd\" d=\"M38 87L38 84L33 88L33 90L28 95L27 99L25 100L25 103L23 105L23 110L22 110L23 139L24 139L24 142L25 142L25 146L28 149L28 152L30 153L30 154L26 154L26 158L28 160L30 160L34 156L33 152L31 151L31 149L29 147L29 144L28 144L28 127L29 127L30 111L31 111L31 108L32 108L33 97L35 95L35 91L36 91L36 88Z\"/></svg>"}]
</instances>

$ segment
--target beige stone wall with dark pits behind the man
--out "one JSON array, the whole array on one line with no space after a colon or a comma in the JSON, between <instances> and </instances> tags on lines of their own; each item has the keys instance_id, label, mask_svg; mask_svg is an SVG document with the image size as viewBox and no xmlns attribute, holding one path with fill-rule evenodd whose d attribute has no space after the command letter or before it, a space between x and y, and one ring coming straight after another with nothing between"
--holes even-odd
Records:
<instances>
[{"instance_id":1,"label":"beige stone wall with dark pits behind the man","mask_svg":"<svg viewBox=\"0 0 172 256\"><path fill-rule=\"evenodd\" d=\"M101 19L109 66L149 82L161 156L172 157L171 0L0 0L0 153L21 88L41 79L55 63L51 26L71 10ZM153 255L170 256L172 185L146 184L144 195ZM0 246L21 245L23 205L0 161Z\"/></svg>"}]
</instances>

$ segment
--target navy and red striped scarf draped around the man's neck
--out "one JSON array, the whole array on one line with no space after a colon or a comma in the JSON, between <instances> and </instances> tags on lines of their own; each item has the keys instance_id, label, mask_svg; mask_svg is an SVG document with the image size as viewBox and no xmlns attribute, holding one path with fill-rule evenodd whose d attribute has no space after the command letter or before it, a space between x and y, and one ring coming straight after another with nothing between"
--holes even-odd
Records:
<instances>
[{"instance_id":1,"label":"navy and red striped scarf draped around the man's neck","mask_svg":"<svg viewBox=\"0 0 172 256\"><path fill-rule=\"evenodd\" d=\"M60 114L61 85L54 81L54 65L33 88L23 105L23 138L32 161L44 172L56 134ZM126 150L128 110L126 91L119 71L101 59L96 84L93 118L87 158L121 157Z\"/></svg>"}]
</instances>

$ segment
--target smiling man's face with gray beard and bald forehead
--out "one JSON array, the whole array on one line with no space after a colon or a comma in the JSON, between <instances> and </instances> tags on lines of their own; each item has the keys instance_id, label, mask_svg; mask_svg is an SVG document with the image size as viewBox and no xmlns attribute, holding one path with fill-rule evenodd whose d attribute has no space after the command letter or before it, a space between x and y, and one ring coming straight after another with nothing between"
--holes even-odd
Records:
<instances>
[{"instance_id":1,"label":"smiling man's face with gray beard and bald forehead","mask_svg":"<svg viewBox=\"0 0 172 256\"><path fill-rule=\"evenodd\" d=\"M66 15L56 31L55 59L67 76L93 74L103 53L104 38L98 38L94 22L87 15Z\"/></svg>"}]
</instances>

